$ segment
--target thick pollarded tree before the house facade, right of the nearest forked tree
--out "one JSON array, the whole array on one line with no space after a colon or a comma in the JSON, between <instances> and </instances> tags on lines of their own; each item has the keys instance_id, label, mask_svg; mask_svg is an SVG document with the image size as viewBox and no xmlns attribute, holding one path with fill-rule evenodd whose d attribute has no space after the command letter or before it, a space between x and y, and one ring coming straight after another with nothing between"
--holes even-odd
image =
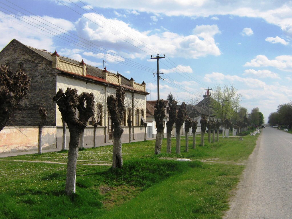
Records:
<instances>
[{"instance_id":1,"label":"thick pollarded tree before the house facade, right of the nearest forked tree","mask_svg":"<svg viewBox=\"0 0 292 219\"><path fill-rule=\"evenodd\" d=\"M122 168L122 134L124 129L122 128L122 121L124 119L125 111L125 91L124 88L119 87L116 92L116 96L110 95L107 97L107 108L110 113L110 118L114 127L114 145L112 150L112 168Z\"/></svg>"}]
</instances>

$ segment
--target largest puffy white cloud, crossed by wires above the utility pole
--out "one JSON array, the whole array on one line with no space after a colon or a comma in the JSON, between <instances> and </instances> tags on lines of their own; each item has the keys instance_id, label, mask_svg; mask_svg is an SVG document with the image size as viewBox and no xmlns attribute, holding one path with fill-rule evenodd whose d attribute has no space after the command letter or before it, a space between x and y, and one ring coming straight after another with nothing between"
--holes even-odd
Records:
<instances>
[{"instance_id":1,"label":"largest puffy white cloud, crossed by wires above the utility pole","mask_svg":"<svg viewBox=\"0 0 292 219\"><path fill-rule=\"evenodd\" d=\"M220 33L217 25L196 26L193 34L187 36L169 31L150 35L150 31L139 32L131 28L130 24L121 20L108 19L116 24L116 27L112 28L104 25L102 22L104 18L98 14L92 15L91 13L84 16L93 20L99 26L88 22L85 18L80 18L76 22L76 30L80 36L94 44L117 51L119 54L123 51L124 57L129 57L136 53L137 56L135 58L146 58L147 54L141 50L152 53L151 49L142 47L141 42L144 45L147 44L152 48L156 48L157 51L164 51L171 58L199 58L207 55L218 56L221 54L214 39L214 35ZM127 38L123 33L131 36L132 39ZM125 42L125 40L132 45Z\"/></svg>"}]
</instances>

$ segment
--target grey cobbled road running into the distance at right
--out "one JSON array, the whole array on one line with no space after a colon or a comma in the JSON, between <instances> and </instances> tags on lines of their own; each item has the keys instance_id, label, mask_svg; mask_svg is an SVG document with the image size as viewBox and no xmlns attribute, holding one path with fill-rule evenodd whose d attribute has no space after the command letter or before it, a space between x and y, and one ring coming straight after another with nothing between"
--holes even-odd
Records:
<instances>
[{"instance_id":1,"label":"grey cobbled road running into the distance at right","mask_svg":"<svg viewBox=\"0 0 292 219\"><path fill-rule=\"evenodd\" d=\"M292 134L263 128L224 218L292 218Z\"/></svg>"}]
</instances>

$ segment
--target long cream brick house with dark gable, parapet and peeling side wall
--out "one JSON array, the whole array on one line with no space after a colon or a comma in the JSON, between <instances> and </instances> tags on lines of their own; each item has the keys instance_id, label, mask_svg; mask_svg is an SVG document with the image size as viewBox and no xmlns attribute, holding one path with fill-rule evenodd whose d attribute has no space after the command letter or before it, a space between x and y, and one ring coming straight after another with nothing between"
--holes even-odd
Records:
<instances>
[{"instance_id":1,"label":"long cream brick house with dark gable, parapet and peeling side wall","mask_svg":"<svg viewBox=\"0 0 292 219\"><path fill-rule=\"evenodd\" d=\"M39 107L45 107L48 112L43 134L44 147L62 147L62 119L58 106L53 102L52 97L59 88L65 91L67 87L76 88L79 94L84 91L94 94L98 107L96 111L102 111L97 130L97 142L100 143L111 141L112 134L111 120L107 114L106 98L114 94L119 86L124 87L127 103L133 105L131 102L135 102L135 108L131 107L133 111L131 114L133 117L133 139L144 140L144 126L141 126L140 122L140 117L144 116L144 112L146 112L146 95L148 94L144 82L138 84L133 78L127 79L119 73L108 72L106 68L102 70L86 65L83 60L76 61L60 56L57 51L50 53L46 50L25 46L15 39L0 52L0 64L9 66L12 71L21 69L31 79L27 98L21 101L18 110L13 113L11 120L6 124L6 128L0 132L0 138L4 139L0 143L0 153L30 150L37 147L37 143L36 145L32 143L35 140L29 138L25 140L25 135L19 135L17 142L13 143L12 138L15 139L17 135L13 137L15 134L12 133L15 130L11 129L16 126L22 133L27 132L27 136L32 135L29 134L32 131L31 128L36 128L40 122ZM128 114L129 112L126 110L124 126L127 125L126 117ZM139 118L136 118L137 116ZM122 136L124 142L128 140L127 130L127 128L124 128ZM69 135L69 131L67 133ZM69 138L67 142L69 142ZM93 126L90 125L90 122L85 130L84 144L93 144Z\"/></svg>"}]
</instances>

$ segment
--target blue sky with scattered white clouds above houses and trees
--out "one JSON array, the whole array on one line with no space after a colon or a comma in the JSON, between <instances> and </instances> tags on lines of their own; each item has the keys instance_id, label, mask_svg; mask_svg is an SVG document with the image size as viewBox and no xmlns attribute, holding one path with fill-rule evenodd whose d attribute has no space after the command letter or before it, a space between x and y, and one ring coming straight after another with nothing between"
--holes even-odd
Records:
<instances>
[{"instance_id":1,"label":"blue sky with scattered white clouds above houses and trees","mask_svg":"<svg viewBox=\"0 0 292 219\"><path fill-rule=\"evenodd\" d=\"M1 0L0 48L12 39L145 81L195 104L232 84L265 122L292 100L292 1ZM163 74L162 74L163 73ZM211 91L212 96L212 91Z\"/></svg>"}]
</instances>

